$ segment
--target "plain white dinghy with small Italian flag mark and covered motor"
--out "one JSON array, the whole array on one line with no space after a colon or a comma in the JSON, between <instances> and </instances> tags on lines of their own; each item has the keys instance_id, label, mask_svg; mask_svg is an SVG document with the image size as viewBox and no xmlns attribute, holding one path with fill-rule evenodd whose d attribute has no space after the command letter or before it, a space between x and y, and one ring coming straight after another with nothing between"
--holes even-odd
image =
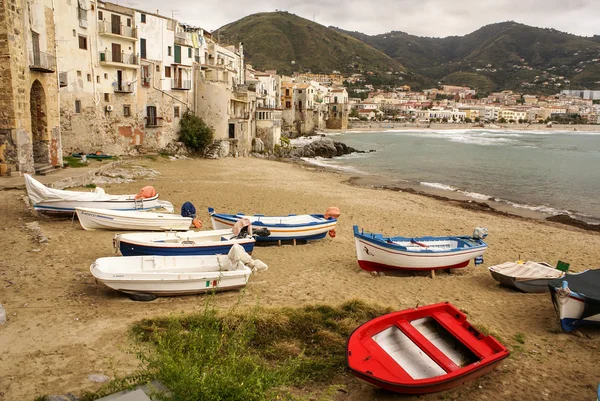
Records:
<instances>
[{"instance_id":1,"label":"plain white dinghy with small Italian flag mark and covered motor","mask_svg":"<svg viewBox=\"0 0 600 401\"><path fill-rule=\"evenodd\" d=\"M238 244L227 255L117 256L90 266L96 280L136 300L242 288L253 271L266 269Z\"/></svg>"}]
</instances>

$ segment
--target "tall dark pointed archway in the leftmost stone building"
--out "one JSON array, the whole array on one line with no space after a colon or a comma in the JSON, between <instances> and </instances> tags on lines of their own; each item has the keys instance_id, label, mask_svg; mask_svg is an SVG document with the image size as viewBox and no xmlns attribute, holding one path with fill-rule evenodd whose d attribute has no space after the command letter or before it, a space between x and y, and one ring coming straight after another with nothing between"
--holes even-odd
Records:
<instances>
[{"instance_id":1,"label":"tall dark pointed archway in the leftmost stone building","mask_svg":"<svg viewBox=\"0 0 600 401\"><path fill-rule=\"evenodd\" d=\"M37 79L31 85L29 94L31 111L31 140L33 142L33 163L50 163L50 140L46 118L46 93Z\"/></svg>"}]
</instances>

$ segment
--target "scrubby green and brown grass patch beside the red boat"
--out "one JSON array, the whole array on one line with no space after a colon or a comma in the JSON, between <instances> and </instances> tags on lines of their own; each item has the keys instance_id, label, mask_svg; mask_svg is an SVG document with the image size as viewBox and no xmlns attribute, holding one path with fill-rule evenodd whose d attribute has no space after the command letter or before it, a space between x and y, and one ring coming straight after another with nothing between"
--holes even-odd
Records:
<instances>
[{"instance_id":1,"label":"scrubby green and brown grass patch beside the red boat","mask_svg":"<svg viewBox=\"0 0 600 401\"><path fill-rule=\"evenodd\" d=\"M301 386L330 384L346 372L350 333L390 311L360 301L246 314L207 304L201 313L143 320L133 328L140 377L162 382L169 400L303 399Z\"/></svg>"}]
</instances>

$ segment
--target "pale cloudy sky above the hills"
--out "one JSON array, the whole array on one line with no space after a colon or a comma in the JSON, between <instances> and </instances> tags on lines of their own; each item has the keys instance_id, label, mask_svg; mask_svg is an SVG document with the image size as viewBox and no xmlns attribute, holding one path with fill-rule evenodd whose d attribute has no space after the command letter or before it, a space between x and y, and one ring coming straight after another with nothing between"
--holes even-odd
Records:
<instances>
[{"instance_id":1,"label":"pale cloudy sky above the hills","mask_svg":"<svg viewBox=\"0 0 600 401\"><path fill-rule=\"evenodd\" d=\"M109 0L175 16L212 31L257 12L286 10L323 25L379 34L465 35L483 25L516 21L582 36L600 34L600 0Z\"/></svg>"}]
</instances>

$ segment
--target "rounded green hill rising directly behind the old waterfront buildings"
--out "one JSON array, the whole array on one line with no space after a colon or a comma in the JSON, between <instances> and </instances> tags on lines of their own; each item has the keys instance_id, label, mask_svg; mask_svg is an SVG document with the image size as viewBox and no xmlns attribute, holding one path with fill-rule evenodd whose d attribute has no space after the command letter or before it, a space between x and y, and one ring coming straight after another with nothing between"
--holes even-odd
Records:
<instances>
[{"instance_id":1,"label":"rounded green hill rising directly behind the old waterfront buildings","mask_svg":"<svg viewBox=\"0 0 600 401\"><path fill-rule=\"evenodd\" d=\"M276 69L284 74L406 70L400 62L352 36L287 12L253 14L212 34L221 43L243 42L247 62L261 70Z\"/></svg>"}]
</instances>

